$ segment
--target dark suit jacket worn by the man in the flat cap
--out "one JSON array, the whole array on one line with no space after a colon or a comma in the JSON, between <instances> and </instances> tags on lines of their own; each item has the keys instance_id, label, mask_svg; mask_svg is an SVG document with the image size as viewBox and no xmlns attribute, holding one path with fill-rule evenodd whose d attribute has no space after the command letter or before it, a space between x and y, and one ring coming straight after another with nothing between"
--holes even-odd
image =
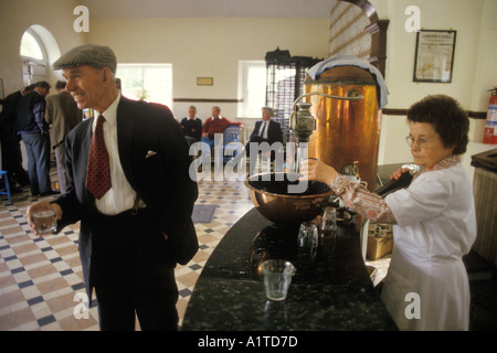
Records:
<instances>
[{"instance_id":1,"label":"dark suit jacket worn by the man in the flat cap","mask_svg":"<svg viewBox=\"0 0 497 353\"><path fill-rule=\"evenodd\" d=\"M95 199L85 188L92 122L76 126L66 138L66 171L70 188L54 202L63 211L57 231L81 221L80 256L88 292L92 257L92 221ZM189 175L188 145L171 111L161 105L120 98L117 107L117 141L123 171L146 203L160 232L146 234L151 246L163 249L163 264L187 264L198 250L191 214L198 196ZM128 254L123 254L127 256Z\"/></svg>"}]
</instances>

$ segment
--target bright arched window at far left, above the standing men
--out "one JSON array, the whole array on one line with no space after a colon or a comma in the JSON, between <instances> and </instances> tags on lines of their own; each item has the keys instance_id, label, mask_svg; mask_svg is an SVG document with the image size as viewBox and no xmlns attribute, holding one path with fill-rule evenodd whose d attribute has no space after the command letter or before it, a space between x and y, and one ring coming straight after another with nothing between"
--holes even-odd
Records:
<instances>
[{"instance_id":1,"label":"bright arched window at far left, above the standing men","mask_svg":"<svg viewBox=\"0 0 497 353\"><path fill-rule=\"evenodd\" d=\"M46 51L38 34L28 29L21 40L22 79L24 85L49 77Z\"/></svg>"}]
</instances>

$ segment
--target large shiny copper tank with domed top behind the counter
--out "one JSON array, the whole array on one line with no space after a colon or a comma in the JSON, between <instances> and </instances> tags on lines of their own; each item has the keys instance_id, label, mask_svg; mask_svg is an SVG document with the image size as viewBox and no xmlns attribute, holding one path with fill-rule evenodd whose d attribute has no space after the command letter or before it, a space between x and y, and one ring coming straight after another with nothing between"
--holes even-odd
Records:
<instances>
[{"instance_id":1,"label":"large shiny copper tank with domed top behind the counter","mask_svg":"<svg viewBox=\"0 0 497 353\"><path fill-rule=\"evenodd\" d=\"M368 183L368 190L374 191L381 129L374 76L357 66L337 66L316 79L307 75L304 83L305 94L347 97L353 90L363 98L357 101L317 95L306 98L317 120L309 138L309 157L322 160L339 173L357 161L360 179Z\"/></svg>"}]
</instances>

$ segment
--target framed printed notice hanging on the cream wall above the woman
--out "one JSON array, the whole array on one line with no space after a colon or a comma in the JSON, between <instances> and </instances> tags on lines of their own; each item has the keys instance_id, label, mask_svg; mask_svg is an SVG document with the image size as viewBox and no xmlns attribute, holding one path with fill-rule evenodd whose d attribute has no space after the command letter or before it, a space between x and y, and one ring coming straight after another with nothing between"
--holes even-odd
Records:
<instances>
[{"instance_id":1,"label":"framed printed notice hanging on the cream wall above the woman","mask_svg":"<svg viewBox=\"0 0 497 353\"><path fill-rule=\"evenodd\" d=\"M420 30L416 38L414 82L450 83L456 31Z\"/></svg>"}]
</instances>

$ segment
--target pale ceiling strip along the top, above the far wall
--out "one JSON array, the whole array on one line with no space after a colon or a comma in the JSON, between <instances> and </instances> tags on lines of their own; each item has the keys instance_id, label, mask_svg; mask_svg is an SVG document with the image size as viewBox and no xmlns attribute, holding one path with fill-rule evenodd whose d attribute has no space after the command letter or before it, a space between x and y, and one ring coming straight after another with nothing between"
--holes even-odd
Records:
<instances>
[{"instance_id":1,"label":"pale ceiling strip along the top, above the far wall","mask_svg":"<svg viewBox=\"0 0 497 353\"><path fill-rule=\"evenodd\" d=\"M80 0L91 19L316 18L337 0Z\"/></svg>"}]
</instances>

